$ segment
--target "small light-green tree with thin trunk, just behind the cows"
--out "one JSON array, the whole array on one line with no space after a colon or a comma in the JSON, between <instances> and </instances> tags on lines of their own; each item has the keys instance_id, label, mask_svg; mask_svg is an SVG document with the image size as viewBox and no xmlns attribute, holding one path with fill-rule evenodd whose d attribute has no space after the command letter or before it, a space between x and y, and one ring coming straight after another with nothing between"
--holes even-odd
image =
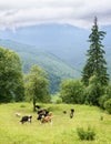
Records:
<instances>
[{"instance_id":1,"label":"small light-green tree with thin trunk, just behind the cows","mask_svg":"<svg viewBox=\"0 0 111 144\"><path fill-rule=\"evenodd\" d=\"M47 73L39 65L31 66L30 73L26 75L26 94L36 102L49 102Z\"/></svg>"}]
</instances>

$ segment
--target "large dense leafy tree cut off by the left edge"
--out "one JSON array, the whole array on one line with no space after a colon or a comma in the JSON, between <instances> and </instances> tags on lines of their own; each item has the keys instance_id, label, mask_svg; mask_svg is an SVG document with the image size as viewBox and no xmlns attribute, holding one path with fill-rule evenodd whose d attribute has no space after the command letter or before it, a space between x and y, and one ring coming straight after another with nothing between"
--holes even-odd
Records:
<instances>
[{"instance_id":1,"label":"large dense leafy tree cut off by the left edge","mask_svg":"<svg viewBox=\"0 0 111 144\"><path fill-rule=\"evenodd\" d=\"M16 52L0 48L0 102L22 101L23 95L20 59Z\"/></svg>"}]
</instances>

